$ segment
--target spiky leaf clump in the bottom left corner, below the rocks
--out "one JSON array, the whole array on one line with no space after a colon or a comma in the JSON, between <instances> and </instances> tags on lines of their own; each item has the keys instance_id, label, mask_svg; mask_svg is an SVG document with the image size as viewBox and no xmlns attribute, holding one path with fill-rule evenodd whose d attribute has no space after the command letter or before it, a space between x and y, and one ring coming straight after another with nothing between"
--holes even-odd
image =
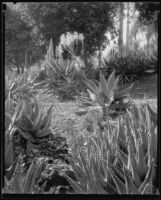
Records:
<instances>
[{"instance_id":1,"label":"spiky leaf clump in the bottom left corner, below the rocks","mask_svg":"<svg viewBox=\"0 0 161 200\"><path fill-rule=\"evenodd\" d=\"M46 168L46 160L43 159L33 159L27 173L23 173L23 156L19 155L16 163L16 167L13 176L10 180L5 178L5 185L3 188L3 193L17 193L17 194L44 194L44 183L41 188L38 187L37 181L41 176L41 173ZM54 188L48 192L48 194L53 193Z\"/></svg>"}]
</instances>

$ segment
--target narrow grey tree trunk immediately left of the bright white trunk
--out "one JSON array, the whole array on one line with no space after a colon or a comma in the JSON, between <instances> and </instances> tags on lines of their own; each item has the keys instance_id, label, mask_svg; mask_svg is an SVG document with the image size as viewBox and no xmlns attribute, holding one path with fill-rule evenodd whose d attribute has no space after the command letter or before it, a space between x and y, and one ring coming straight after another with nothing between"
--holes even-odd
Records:
<instances>
[{"instance_id":1,"label":"narrow grey tree trunk immediately left of the bright white trunk","mask_svg":"<svg viewBox=\"0 0 161 200\"><path fill-rule=\"evenodd\" d=\"M123 13L124 11L124 3L120 2L120 13L119 13L119 53L120 56L122 57L123 54Z\"/></svg>"}]
</instances>

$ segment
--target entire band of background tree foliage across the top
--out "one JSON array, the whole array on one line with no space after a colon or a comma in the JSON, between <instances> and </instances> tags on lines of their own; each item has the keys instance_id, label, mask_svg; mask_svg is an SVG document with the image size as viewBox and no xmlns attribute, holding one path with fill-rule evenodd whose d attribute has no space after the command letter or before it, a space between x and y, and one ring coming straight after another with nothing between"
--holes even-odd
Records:
<instances>
[{"instance_id":1,"label":"entire band of background tree foliage across the top","mask_svg":"<svg viewBox=\"0 0 161 200\"><path fill-rule=\"evenodd\" d=\"M91 55L101 57L101 52L109 42L105 35L107 32L110 32L112 38L119 35L118 46L122 52L124 11L127 9L129 18L129 7L130 5L126 5L125 2L18 3L7 7L6 63L14 63L19 72L19 67L25 64L25 60L27 65L43 58L50 38L53 40L55 51L56 46L60 44L61 36L74 32L83 35L83 45L81 41L79 44L73 41L73 46L74 49L78 49L76 54L82 55L85 65ZM138 20L143 24L153 24L151 32L157 32L159 3L135 3L135 10L139 11ZM129 23L129 20L127 21ZM130 45L128 32L129 28L127 52ZM150 32L148 34L147 37L150 38ZM65 56L67 53L64 50Z\"/></svg>"}]
</instances>

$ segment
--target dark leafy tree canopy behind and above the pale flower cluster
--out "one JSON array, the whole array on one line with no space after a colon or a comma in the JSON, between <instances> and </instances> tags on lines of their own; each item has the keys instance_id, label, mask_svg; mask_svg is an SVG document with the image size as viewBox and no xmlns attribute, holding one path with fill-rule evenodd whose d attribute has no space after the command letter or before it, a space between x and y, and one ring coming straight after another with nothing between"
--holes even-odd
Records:
<instances>
[{"instance_id":1,"label":"dark leafy tree canopy behind and above the pale flower cluster","mask_svg":"<svg viewBox=\"0 0 161 200\"><path fill-rule=\"evenodd\" d=\"M116 33L116 9L114 3L27 3L27 13L45 41L52 38L56 46L62 34L78 32L84 36L87 55L94 54L102 47L106 31Z\"/></svg>"}]
</instances>

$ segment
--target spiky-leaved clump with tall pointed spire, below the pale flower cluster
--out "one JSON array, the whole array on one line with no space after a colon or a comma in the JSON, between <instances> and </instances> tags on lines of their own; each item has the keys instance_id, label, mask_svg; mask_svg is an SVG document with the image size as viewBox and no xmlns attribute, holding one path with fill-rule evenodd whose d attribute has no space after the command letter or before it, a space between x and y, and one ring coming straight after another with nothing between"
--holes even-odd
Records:
<instances>
[{"instance_id":1,"label":"spiky-leaved clump with tall pointed spire, below the pale flower cluster","mask_svg":"<svg viewBox=\"0 0 161 200\"><path fill-rule=\"evenodd\" d=\"M73 60L64 60L62 57L55 58L53 53L53 43L47 51L44 62L46 68L46 79L43 84L45 92L58 96L61 100L71 99L81 89L81 73L79 73Z\"/></svg>"}]
</instances>

